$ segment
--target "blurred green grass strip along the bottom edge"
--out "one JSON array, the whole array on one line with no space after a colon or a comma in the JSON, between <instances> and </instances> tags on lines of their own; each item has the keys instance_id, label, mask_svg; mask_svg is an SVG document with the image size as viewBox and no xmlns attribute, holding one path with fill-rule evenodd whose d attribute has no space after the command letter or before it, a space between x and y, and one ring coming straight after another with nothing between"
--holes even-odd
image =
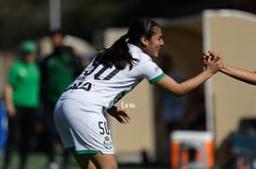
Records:
<instances>
[{"instance_id":1,"label":"blurred green grass strip along the bottom edge","mask_svg":"<svg viewBox=\"0 0 256 169\"><path fill-rule=\"evenodd\" d=\"M56 160L61 164L61 157L56 156ZM0 155L0 168L3 166L3 155ZM29 155L26 169L45 169L47 162L46 156L42 152L33 152ZM13 153L11 159L10 169L19 168L19 156L16 152ZM61 167L59 169L62 169ZM80 169L78 164L72 159L69 169ZM161 166L157 164L137 164L137 163L119 163L119 169L169 169L167 166Z\"/></svg>"}]
</instances>

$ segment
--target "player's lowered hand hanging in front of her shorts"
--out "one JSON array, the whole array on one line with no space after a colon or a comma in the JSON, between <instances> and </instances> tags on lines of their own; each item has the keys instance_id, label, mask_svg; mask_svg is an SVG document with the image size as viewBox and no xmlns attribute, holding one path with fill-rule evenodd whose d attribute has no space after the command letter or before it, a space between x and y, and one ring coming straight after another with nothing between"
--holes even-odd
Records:
<instances>
[{"instance_id":1,"label":"player's lowered hand hanging in front of her shorts","mask_svg":"<svg viewBox=\"0 0 256 169\"><path fill-rule=\"evenodd\" d=\"M125 109L117 106L113 106L108 110L108 113L113 116L116 120L118 120L120 123L128 124L130 118L128 116L128 113Z\"/></svg>"}]
</instances>

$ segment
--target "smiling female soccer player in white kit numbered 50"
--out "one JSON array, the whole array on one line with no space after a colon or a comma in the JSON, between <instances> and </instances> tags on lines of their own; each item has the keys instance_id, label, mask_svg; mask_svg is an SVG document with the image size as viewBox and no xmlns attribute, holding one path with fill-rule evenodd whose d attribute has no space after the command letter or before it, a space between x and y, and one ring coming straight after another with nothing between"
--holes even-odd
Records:
<instances>
[{"instance_id":1,"label":"smiling female soccer player in white kit numbered 50","mask_svg":"<svg viewBox=\"0 0 256 169\"><path fill-rule=\"evenodd\" d=\"M143 78L180 96L202 84L221 67L218 56L209 57L201 74L177 83L151 60L158 57L163 45L160 25L150 19L138 19L129 26L126 35L98 52L61 95L54 110L55 124L64 147L72 150L81 168L118 168L104 114L107 112L121 123L128 123L128 114L114 104Z\"/></svg>"}]
</instances>

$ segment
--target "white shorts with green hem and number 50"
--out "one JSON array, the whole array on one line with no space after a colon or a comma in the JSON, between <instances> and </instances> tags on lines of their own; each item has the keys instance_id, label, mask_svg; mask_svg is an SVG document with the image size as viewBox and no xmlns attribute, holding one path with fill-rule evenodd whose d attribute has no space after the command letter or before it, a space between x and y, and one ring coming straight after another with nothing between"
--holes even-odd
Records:
<instances>
[{"instance_id":1,"label":"white shorts with green hem and number 50","mask_svg":"<svg viewBox=\"0 0 256 169\"><path fill-rule=\"evenodd\" d=\"M64 148L74 148L78 154L113 154L111 131L101 112L93 112L76 100L63 99L57 102L53 116Z\"/></svg>"}]
</instances>

